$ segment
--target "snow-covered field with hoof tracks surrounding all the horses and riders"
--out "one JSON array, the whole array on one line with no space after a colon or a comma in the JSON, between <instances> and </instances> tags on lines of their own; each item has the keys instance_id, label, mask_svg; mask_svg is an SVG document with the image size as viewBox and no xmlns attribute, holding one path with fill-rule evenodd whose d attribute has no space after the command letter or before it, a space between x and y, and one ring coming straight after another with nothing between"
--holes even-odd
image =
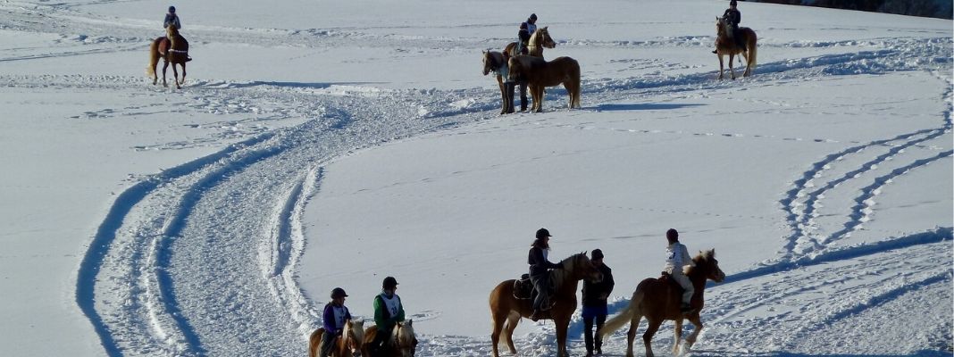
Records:
<instances>
[{"instance_id":1,"label":"snow-covered field with hoof tracks surrounding all the horses and riders","mask_svg":"<svg viewBox=\"0 0 954 357\"><path fill-rule=\"evenodd\" d=\"M419 356L485 356L541 227L607 253L611 314L666 229L715 248L691 355L954 352L949 20L741 3L758 66L717 81L724 1L209 0L173 4L176 90L143 75L168 5L0 1L0 355L304 355L392 275ZM583 109L497 115L481 50L530 12Z\"/></svg>"}]
</instances>

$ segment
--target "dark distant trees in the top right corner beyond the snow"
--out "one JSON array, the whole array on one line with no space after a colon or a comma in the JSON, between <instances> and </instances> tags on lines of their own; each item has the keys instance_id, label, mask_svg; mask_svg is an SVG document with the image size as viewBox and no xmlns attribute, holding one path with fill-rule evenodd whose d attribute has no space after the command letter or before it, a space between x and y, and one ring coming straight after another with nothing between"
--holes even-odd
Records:
<instances>
[{"instance_id":1,"label":"dark distant trees in the top right corner beyond the snow","mask_svg":"<svg viewBox=\"0 0 954 357\"><path fill-rule=\"evenodd\" d=\"M744 1L744 0L743 0ZM951 0L755 0L761 3L805 5L822 8L861 10L901 15L950 19L954 15Z\"/></svg>"}]
</instances>

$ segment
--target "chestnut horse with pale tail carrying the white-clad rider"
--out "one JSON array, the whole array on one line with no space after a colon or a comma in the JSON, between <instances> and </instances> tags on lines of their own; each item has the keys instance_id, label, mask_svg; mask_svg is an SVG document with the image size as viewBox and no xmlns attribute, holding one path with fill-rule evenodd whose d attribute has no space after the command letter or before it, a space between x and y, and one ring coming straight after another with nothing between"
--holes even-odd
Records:
<instances>
[{"instance_id":1,"label":"chestnut horse with pale tail carrying the white-clad rider","mask_svg":"<svg viewBox=\"0 0 954 357\"><path fill-rule=\"evenodd\" d=\"M716 283L725 279L725 273L718 268L716 260L716 249L700 252L693 258L695 268L690 268L686 273L689 280L693 282L695 293L690 305L692 312L683 314L679 309L682 304L682 288L672 281L648 278L636 286L633 292L633 300L630 305L616 315L610 321L606 322L601 333L603 338L611 335L613 331L623 327L627 322L630 323L630 331L626 335L626 355L633 356L633 339L636 337L636 327L639 327L639 320L646 317L649 321L649 327L646 327L646 333L643 334L643 345L646 346L646 356L653 357L653 347L650 342L653 340L653 334L659 329L659 325L664 320L673 320L675 322L675 341L673 344L673 354L678 353L679 340L682 338L682 319L687 318L693 323L695 330L686 338L686 350L689 350L695 344L695 338L702 330L702 321L699 320L699 310L703 307L703 291L706 288L706 279L712 279Z\"/></svg>"}]
</instances>

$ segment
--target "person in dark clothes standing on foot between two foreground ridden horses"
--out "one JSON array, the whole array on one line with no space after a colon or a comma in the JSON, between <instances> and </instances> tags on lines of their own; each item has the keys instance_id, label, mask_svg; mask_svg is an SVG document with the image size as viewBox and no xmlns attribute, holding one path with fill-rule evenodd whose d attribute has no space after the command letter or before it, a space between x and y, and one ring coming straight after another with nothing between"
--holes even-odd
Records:
<instances>
[{"instance_id":1,"label":"person in dark clothes standing on foot between two foreground ridden horses","mask_svg":"<svg viewBox=\"0 0 954 357\"><path fill-rule=\"evenodd\" d=\"M606 300L612 293L612 287L615 283L612 281L612 269L603 263L603 250L593 249L590 253L590 260L593 266L603 274L603 280L593 282L591 280L583 281L583 337L587 345L587 357L596 354L603 354L603 336L600 332L603 325L606 324L606 315L610 313ZM593 344L593 323L596 323L596 341Z\"/></svg>"}]
</instances>

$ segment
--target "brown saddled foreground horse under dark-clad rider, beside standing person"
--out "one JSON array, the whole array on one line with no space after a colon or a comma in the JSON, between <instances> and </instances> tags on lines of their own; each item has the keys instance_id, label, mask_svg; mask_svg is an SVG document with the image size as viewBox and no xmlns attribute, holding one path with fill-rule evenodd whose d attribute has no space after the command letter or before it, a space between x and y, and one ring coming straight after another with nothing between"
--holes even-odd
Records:
<instances>
[{"instance_id":1,"label":"brown saddled foreground horse under dark-clad rider, beside standing person","mask_svg":"<svg viewBox=\"0 0 954 357\"><path fill-rule=\"evenodd\" d=\"M553 320L556 324L556 345L559 355L569 356L567 327L570 326L570 315L576 310L576 286L582 279L603 280L603 274L592 264L586 253L573 254L560 262L560 265L563 266L562 269L550 271L550 281L555 283L556 292L550 297L553 307L545 311L549 313L545 313L543 318ZM500 355L497 345L500 344L501 337L507 341L510 353L517 353L517 348L513 346L513 329L520 323L521 317L529 317L533 313L533 303L530 299L514 297L514 282L516 281L513 279L505 280L490 291L490 320L493 321L490 341L493 344L493 357Z\"/></svg>"}]
</instances>

